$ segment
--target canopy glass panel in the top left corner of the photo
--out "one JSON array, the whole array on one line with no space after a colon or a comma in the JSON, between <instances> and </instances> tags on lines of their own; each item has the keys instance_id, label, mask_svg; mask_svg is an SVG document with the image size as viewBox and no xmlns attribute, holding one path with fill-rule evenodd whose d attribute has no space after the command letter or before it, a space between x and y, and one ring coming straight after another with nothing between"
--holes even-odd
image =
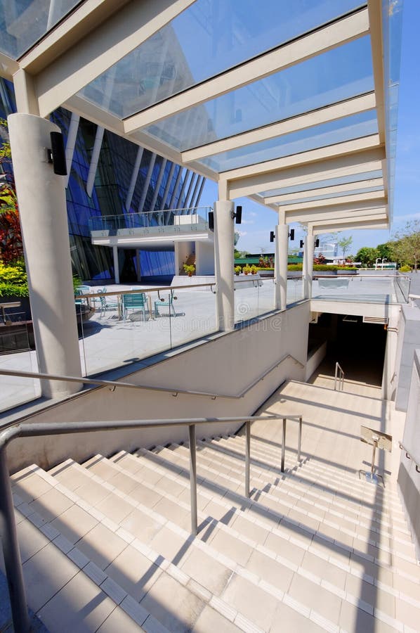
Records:
<instances>
[{"instance_id":1,"label":"canopy glass panel in the top left corner of the photo","mask_svg":"<svg viewBox=\"0 0 420 633\"><path fill-rule=\"evenodd\" d=\"M80 0L6 0L0 6L0 51L17 59Z\"/></svg>"}]
</instances>

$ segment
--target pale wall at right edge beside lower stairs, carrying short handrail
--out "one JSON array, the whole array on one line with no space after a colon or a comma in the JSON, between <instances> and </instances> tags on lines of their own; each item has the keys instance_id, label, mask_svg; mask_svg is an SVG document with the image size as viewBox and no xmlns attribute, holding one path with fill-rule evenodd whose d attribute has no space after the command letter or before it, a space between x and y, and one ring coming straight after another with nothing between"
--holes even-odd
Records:
<instances>
[{"instance_id":1,"label":"pale wall at right edge beside lower stairs, carrying short handrail","mask_svg":"<svg viewBox=\"0 0 420 633\"><path fill-rule=\"evenodd\" d=\"M419 342L418 342L419 345ZM412 532L417 560L420 561L420 473L416 471L414 459L420 464L420 351L414 353L412 376L409 383L407 418L402 444L413 459L401 451L398 486L405 516Z\"/></svg>"}]
</instances>

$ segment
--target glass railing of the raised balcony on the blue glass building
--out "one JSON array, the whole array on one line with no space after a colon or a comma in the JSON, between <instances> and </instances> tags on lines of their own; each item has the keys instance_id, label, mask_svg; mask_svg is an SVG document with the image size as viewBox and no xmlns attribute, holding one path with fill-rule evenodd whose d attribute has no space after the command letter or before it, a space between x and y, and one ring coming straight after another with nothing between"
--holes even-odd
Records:
<instances>
[{"instance_id":1,"label":"glass railing of the raised balcony on the blue glass building","mask_svg":"<svg viewBox=\"0 0 420 633\"><path fill-rule=\"evenodd\" d=\"M166 226L178 229L209 228L209 211L211 207L188 207L185 209L169 209L147 211L143 213L125 213L124 215L99 215L89 218L91 231L108 231L108 234L125 234L126 231L146 230L157 232Z\"/></svg>"}]
</instances>

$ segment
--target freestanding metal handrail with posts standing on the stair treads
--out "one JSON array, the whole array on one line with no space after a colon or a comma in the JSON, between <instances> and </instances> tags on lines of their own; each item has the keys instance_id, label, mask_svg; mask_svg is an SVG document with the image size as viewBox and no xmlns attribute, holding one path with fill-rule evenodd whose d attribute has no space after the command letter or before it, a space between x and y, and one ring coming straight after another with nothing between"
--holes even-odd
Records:
<instances>
[{"instance_id":1,"label":"freestanding metal handrail with posts standing on the stair treads","mask_svg":"<svg viewBox=\"0 0 420 633\"><path fill-rule=\"evenodd\" d=\"M282 461L281 471L284 472L284 453L286 447L286 421L287 418L298 418L298 461L301 455L301 427L302 416L248 416L244 418L187 418L182 420L119 420L119 421L93 421L93 422L34 422L20 423L6 428L0 433L0 518L3 533L1 542L4 552L6 577L11 601L12 620L16 633L29 632L29 616L23 581L22 560L18 545L15 514L13 508L13 496L11 481L7 468L6 447L12 440L18 437L39 437L43 435L67 435L70 433L92 433L96 431L117 429L162 428L169 426L188 426L190 439L190 504L191 504L191 531L197 535L197 451L195 427L209 423L244 422L247 426L247 442L245 456L245 496L249 498L249 479L251 463L251 422L257 420L282 419Z\"/></svg>"}]
</instances>

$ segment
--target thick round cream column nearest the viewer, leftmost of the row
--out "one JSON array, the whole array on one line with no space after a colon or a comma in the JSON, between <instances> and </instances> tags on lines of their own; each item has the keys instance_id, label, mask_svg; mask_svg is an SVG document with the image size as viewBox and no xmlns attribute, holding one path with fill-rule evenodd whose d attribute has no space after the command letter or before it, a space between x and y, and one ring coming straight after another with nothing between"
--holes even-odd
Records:
<instances>
[{"instance_id":1,"label":"thick round cream column nearest the viewer, leftmost of the row","mask_svg":"<svg viewBox=\"0 0 420 633\"><path fill-rule=\"evenodd\" d=\"M65 177L47 162L50 132L60 128L35 115L8 117L13 170L27 264L39 371L81 376L65 202ZM70 395L79 383L41 381L46 397Z\"/></svg>"}]
</instances>

